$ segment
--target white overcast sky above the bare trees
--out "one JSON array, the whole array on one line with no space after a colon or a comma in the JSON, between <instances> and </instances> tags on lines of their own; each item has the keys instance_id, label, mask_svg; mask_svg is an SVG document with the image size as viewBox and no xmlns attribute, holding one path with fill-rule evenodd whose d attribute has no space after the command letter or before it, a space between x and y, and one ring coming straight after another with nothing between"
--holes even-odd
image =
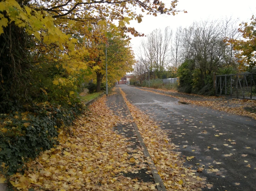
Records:
<instances>
[{"instance_id":1,"label":"white overcast sky above the bare trees","mask_svg":"<svg viewBox=\"0 0 256 191\"><path fill-rule=\"evenodd\" d=\"M166 0L165 2L170 2ZM167 3L168 4L168 3ZM164 29L170 26L174 31L177 27L186 27L194 21L205 19L221 19L232 16L234 19L249 21L256 13L256 0L179 0L178 10L186 10L187 13L180 12L175 16L158 15L157 17L144 15L142 22L131 21L130 26L137 31L148 34L156 28ZM132 36L131 36L132 37ZM132 37L131 46L136 52L140 46L142 37Z\"/></svg>"}]
</instances>

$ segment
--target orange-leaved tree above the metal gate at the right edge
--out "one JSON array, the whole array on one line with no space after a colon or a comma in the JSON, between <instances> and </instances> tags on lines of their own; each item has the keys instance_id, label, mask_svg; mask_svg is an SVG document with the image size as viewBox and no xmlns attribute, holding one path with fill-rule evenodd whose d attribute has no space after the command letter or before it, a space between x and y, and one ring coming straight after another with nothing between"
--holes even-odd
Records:
<instances>
[{"instance_id":1,"label":"orange-leaved tree above the metal gate at the right edge","mask_svg":"<svg viewBox=\"0 0 256 191\"><path fill-rule=\"evenodd\" d=\"M236 57L242 68L253 68L256 65L256 18L253 16L251 22L240 24L238 31L242 34L242 40L230 38L228 42L233 44L233 49L239 51Z\"/></svg>"}]
</instances>

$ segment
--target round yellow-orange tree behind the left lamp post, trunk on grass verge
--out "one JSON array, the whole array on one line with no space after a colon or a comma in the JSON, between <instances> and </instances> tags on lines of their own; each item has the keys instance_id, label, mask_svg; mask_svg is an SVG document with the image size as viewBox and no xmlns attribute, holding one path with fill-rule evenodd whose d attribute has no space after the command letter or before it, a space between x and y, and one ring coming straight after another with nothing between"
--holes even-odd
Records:
<instances>
[{"instance_id":1,"label":"round yellow-orange tree behind the left lamp post, trunk on grass verge","mask_svg":"<svg viewBox=\"0 0 256 191\"><path fill-rule=\"evenodd\" d=\"M96 29L94 30L94 33L96 33ZM102 35L103 36L101 38L96 37L85 41L85 46L90 52L88 56L85 57L85 61L96 73L96 92L100 91L100 84L106 73L106 48L109 82L114 82L115 80L123 77L126 72L131 72L132 65L134 63L134 55L127 40L120 36L113 36L104 39L104 34ZM106 41L106 43L104 43L104 41Z\"/></svg>"}]
</instances>

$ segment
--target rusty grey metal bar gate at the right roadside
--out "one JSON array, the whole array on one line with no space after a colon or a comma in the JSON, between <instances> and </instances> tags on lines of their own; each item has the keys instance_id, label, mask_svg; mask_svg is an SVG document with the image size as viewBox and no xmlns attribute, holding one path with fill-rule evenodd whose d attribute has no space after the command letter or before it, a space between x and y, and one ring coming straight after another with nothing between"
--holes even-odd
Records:
<instances>
[{"instance_id":1,"label":"rusty grey metal bar gate at the right roadside","mask_svg":"<svg viewBox=\"0 0 256 191\"><path fill-rule=\"evenodd\" d=\"M256 100L256 73L218 75L215 90L218 96Z\"/></svg>"}]
</instances>

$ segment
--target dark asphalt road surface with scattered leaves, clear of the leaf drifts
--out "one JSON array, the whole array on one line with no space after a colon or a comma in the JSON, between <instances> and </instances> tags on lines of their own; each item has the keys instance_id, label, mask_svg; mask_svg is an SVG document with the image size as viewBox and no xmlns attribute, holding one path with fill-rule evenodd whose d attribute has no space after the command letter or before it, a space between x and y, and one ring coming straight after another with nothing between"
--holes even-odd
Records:
<instances>
[{"instance_id":1,"label":"dark asphalt road surface with scattered leaves, clear of the leaf drifts","mask_svg":"<svg viewBox=\"0 0 256 191\"><path fill-rule=\"evenodd\" d=\"M185 165L194 170L204 167L200 177L213 187L203 190L256 190L256 120L119 87L134 106L159 121L181 155L195 157Z\"/></svg>"}]
</instances>

